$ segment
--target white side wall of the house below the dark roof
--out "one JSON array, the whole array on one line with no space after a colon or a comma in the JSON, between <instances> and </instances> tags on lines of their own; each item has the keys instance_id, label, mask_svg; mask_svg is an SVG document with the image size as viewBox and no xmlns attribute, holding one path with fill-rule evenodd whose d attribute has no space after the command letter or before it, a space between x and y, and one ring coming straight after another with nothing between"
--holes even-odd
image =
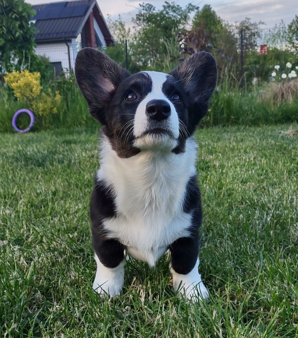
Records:
<instances>
[{"instance_id":1,"label":"white side wall of the house below the dark roof","mask_svg":"<svg viewBox=\"0 0 298 338\"><path fill-rule=\"evenodd\" d=\"M76 51L73 51L71 42L68 42L68 45L70 65L71 69L74 69ZM35 48L35 54L47 57L50 62L61 62L63 69L69 69L68 49L65 43L38 44Z\"/></svg>"}]
</instances>

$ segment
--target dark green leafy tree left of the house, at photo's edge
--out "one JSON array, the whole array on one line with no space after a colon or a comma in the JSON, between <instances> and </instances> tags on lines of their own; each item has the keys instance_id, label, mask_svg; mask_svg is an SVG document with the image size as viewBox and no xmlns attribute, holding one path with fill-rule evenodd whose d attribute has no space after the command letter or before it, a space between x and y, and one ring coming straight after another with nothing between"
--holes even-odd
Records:
<instances>
[{"instance_id":1,"label":"dark green leafy tree left of the house, at photo's edge","mask_svg":"<svg viewBox=\"0 0 298 338\"><path fill-rule=\"evenodd\" d=\"M35 15L23 0L0 0L0 71L20 70L30 62L35 46Z\"/></svg>"}]
</instances>

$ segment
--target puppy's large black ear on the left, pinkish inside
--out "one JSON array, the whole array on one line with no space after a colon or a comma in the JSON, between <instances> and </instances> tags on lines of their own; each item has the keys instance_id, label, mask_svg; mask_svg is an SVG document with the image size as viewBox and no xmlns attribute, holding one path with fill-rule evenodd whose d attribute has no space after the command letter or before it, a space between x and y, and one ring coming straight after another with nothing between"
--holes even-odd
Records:
<instances>
[{"instance_id":1,"label":"puppy's large black ear on the left, pinkish inside","mask_svg":"<svg viewBox=\"0 0 298 338\"><path fill-rule=\"evenodd\" d=\"M79 51L75 73L78 85L89 104L90 114L105 125L105 107L120 82L129 73L109 56L94 48L83 48Z\"/></svg>"}]
</instances>

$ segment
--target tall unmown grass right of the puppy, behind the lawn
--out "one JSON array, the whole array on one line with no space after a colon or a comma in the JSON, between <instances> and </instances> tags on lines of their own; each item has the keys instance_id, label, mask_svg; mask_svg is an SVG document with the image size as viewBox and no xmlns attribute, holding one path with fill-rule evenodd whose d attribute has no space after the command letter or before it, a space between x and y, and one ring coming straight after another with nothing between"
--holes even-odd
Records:
<instances>
[{"instance_id":1,"label":"tall unmown grass right of the puppy, behind the lawn","mask_svg":"<svg viewBox=\"0 0 298 338\"><path fill-rule=\"evenodd\" d=\"M234 74L221 78L201 126L262 125L298 121L298 82L265 83L254 87L244 79L240 88Z\"/></svg>"}]
</instances>

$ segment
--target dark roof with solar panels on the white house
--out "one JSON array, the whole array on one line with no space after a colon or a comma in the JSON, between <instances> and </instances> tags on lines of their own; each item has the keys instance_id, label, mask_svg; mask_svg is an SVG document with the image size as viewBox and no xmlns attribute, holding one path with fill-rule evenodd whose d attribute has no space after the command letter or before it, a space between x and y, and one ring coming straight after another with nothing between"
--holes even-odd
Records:
<instances>
[{"instance_id":1,"label":"dark roof with solar panels on the white house","mask_svg":"<svg viewBox=\"0 0 298 338\"><path fill-rule=\"evenodd\" d=\"M95 0L62 1L34 5L36 15L31 20L35 21L35 27L38 29L35 41L76 38L94 6L97 7ZM112 41L109 29L98 8L97 14L95 18L105 39Z\"/></svg>"}]
</instances>

